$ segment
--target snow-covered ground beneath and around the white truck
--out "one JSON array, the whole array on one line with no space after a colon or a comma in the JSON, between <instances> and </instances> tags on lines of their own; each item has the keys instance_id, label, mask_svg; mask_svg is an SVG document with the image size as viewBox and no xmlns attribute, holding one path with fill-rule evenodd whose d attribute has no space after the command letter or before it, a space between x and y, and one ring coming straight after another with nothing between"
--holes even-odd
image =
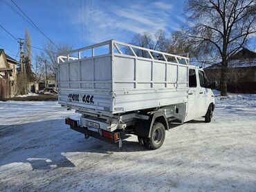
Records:
<instances>
[{"instance_id":1,"label":"snow-covered ground beneath and around the white truck","mask_svg":"<svg viewBox=\"0 0 256 192\"><path fill-rule=\"evenodd\" d=\"M0 191L256 191L256 95L216 99L156 151L84 140L57 102L0 102Z\"/></svg>"}]
</instances>

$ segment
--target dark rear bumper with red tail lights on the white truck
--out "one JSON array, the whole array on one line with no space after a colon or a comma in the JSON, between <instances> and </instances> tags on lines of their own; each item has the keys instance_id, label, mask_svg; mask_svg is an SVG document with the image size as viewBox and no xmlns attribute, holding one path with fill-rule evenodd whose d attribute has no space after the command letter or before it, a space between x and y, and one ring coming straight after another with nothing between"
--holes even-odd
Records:
<instances>
[{"instance_id":1,"label":"dark rear bumper with red tail lights on the white truck","mask_svg":"<svg viewBox=\"0 0 256 192\"><path fill-rule=\"evenodd\" d=\"M103 130L101 128L98 129L98 132L91 131L87 127L80 126L78 121L70 119L70 118L66 118L65 123L68 124L71 129L73 129L79 133L83 133L86 136L97 138L98 140L102 140L104 142L114 144L118 147L122 146L122 140L120 138L120 133L113 133L110 131Z\"/></svg>"}]
</instances>

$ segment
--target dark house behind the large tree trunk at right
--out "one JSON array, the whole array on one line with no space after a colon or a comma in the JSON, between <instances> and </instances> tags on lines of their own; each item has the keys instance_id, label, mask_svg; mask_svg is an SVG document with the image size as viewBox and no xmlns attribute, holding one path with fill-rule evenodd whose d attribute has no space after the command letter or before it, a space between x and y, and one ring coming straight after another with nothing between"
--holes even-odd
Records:
<instances>
[{"instance_id":1,"label":"dark house behind the large tree trunk at right","mask_svg":"<svg viewBox=\"0 0 256 192\"><path fill-rule=\"evenodd\" d=\"M204 69L212 83L221 77L221 64ZM243 48L228 61L228 91L236 93L256 93L256 52Z\"/></svg>"}]
</instances>

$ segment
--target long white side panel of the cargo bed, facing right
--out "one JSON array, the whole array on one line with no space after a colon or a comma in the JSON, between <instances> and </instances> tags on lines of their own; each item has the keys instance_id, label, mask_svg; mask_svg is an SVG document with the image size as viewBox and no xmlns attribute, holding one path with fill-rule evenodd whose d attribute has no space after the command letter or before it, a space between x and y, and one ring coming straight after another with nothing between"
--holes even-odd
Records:
<instances>
[{"instance_id":1,"label":"long white side panel of the cargo bed, facing right","mask_svg":"<svg viewBox=\"0 0 256 192\"><path fill-rule=\"evenodd\" d=\"M188 102L188 66L115 54L115 111L134 111Z\"/></svg>"}]
</instances>

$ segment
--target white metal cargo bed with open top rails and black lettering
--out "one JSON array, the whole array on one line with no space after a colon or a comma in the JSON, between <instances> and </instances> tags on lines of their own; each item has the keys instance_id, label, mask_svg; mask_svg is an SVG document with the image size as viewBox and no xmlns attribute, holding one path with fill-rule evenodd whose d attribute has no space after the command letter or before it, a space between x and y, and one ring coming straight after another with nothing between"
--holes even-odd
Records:
<instances>
[{"instance_id":1,"label":"white metal cargo bed with open top rails and black lettering","mask_svg":"<svg viewBox=\"0 0 256 192\"><path fill-rule=\"evenodd\" d=\"M113 40L73 50L58 57L59 103L115 114L188 102L188 65L188 57Z\"/></svg>"}]
</instances>

